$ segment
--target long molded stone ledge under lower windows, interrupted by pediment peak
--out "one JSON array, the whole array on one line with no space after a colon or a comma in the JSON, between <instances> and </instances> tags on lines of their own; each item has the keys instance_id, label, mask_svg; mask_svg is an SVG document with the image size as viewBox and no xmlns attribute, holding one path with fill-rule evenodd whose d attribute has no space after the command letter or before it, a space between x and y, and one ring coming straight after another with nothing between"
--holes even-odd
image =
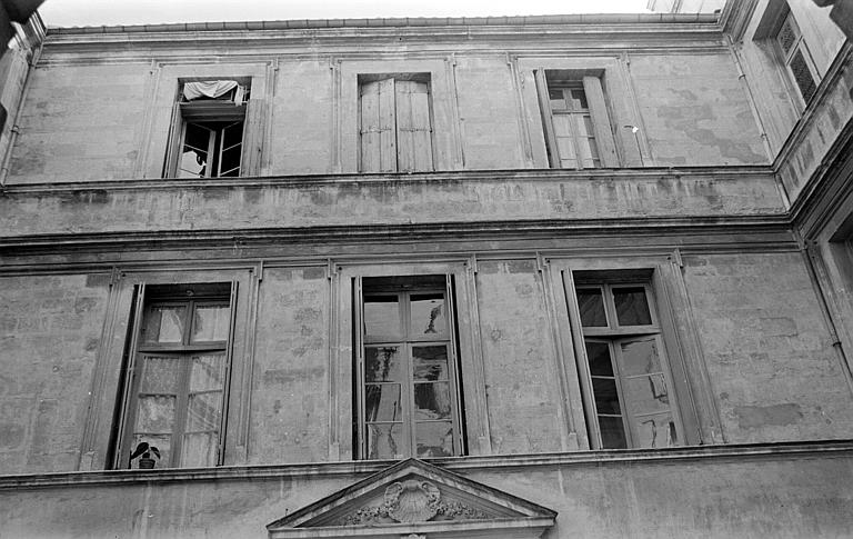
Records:
<instances>
[{"instance_id":1,"label":"long molded stone ledge under lower windows, interrupted by pediment peak","mask_svg":"<svg viewBox=\"0 0 853 539\"><path fill-rule=\"evenodd\" d=\"M603 450L539 455L496 455L428 459L448 470L490 471L540 467L636 467L703 461L853 459L853 440L696 446L669 449ZM188 481L249 481L279 478L351 477L378 473L394 461L353 461L300 465L228 466L220 468L72 471L0 476L0 489L68 488L174 483Z\"/></svg>"}]
</instances>

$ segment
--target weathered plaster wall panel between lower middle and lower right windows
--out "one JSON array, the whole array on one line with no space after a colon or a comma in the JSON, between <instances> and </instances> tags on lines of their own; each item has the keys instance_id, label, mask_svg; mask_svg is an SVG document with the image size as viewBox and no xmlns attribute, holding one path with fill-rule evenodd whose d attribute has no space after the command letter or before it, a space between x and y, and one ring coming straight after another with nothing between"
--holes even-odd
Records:
<instances>
[{"instance_id":1,"label":"weathered plaster wall panel between lower middle and lower right windows","mask_svg":"<svg viewBox=\"0 0 853 539\"><path fill-rule=\"evenodd\" d=\"M535 261L482 262L476 290L492 450L559 451L560 387Z\"/></svg>"}]
</instances>

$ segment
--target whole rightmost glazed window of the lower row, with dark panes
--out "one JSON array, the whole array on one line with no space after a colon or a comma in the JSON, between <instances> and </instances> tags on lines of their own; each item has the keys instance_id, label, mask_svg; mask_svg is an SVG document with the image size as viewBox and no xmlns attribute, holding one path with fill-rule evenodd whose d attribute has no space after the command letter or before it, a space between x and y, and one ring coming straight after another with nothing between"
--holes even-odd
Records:
<instances>
[{"instance_id":1,"label":"whole rightmost glazed window of the lower row, with dark panes","mask_svg":"<svg viewBox=\"0 0 853 539\"><path fill-rule=\"evenodd\" d=\"M581 283L590 438L594 448L681 443L661 329L648 283Z\"/></svg>"}]
</instances>

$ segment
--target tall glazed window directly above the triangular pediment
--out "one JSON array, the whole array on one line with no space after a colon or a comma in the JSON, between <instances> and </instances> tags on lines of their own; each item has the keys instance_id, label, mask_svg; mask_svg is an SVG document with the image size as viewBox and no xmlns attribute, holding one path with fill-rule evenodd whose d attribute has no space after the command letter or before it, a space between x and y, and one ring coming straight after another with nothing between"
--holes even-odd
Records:
<instances>
[{"instance_id":1,"label":"tall glazed window directly above the triangular pediment","mask_svg":"<svg viewBox=\"0 0 853 539\"><path fill-rule=\"evenodd\" d=\"M360 445L368 459L461 455L444 276L362 281Z\"/></svg>"}]
</instances>

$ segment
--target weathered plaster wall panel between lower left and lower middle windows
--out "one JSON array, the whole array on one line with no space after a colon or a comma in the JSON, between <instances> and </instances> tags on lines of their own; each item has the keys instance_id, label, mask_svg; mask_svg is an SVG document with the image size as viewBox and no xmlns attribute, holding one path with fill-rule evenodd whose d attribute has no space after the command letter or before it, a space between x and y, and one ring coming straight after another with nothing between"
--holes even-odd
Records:
<instances>
[{"instance_id":1,"label":"weathered plaster wall panel between lower left and lower middle windows","mask_svg":"<svg viewBox=\"0 0 853 539\"><path fill-rule=\"evenodd\" d=\"M325 268L269 268L260 288L248 463L329 458Z\"/></svg>"}]
</instances>

